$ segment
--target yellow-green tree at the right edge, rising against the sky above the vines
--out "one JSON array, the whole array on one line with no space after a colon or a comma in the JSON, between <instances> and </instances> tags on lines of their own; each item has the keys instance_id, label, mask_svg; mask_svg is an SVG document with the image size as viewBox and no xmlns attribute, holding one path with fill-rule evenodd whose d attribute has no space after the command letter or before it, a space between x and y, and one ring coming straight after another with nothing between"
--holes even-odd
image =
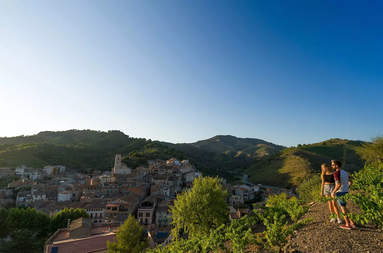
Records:
<instances>
[{"instance_id":1,"label":"yellow-green tree at the right edge, rising against the sky above the vines","mask_svg":"<svg viewBox=\"0 0 383 253\"><path fill-rule=\"evenodd\" d=\"M366 160L366 163L383 161L383 135L377 135L371 138L371 142L362 144L362 147L357 149L360 157Z\"/></svg>"}]
</instances>

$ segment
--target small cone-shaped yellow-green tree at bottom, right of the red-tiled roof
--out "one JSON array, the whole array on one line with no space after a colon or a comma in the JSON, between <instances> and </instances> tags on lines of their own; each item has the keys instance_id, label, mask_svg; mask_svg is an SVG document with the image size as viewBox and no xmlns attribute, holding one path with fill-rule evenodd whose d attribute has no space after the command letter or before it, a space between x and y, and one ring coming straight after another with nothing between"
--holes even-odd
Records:
<instances>
[{"instance_id":1,"label":"small cone-shaped yellow-green tree at bottom, right of the red-tiled roof","mask_svg":"<svg viewBox=\"0 0 383 253\"><path fill-rule=\"evenodd\" d=\"M140 253L148 247L148 241L145 238L141 241L142 227L139 222L129 214L124 225L117 231L117 241L107 241L107 253Z\"/></svg>"}]
</instances>

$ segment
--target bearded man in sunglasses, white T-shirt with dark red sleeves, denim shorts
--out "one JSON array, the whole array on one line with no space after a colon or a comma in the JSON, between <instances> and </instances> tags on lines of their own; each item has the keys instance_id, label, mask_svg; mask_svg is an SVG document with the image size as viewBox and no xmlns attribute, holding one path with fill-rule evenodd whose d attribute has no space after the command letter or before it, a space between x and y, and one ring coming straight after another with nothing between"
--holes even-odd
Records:
<instances>
[{"instance_id":1,"label":"bearded man in sunglasses, white T-shirt with dark red sleeves, denim shorts","mask_svg":"<svg viewBox=\"0 0 383 253\"><path fill-rule=\"evenodd\" d=\"M352 180L350 179L349 174L346 171L342 170L342 163L339 160L332 160L331 167L333 170L336 170L336 172L334 173L336 185L334 191L331 194L331 197L338 197L338 205L342 209L344 215L347 215L348 210L346 207L346 202L341 200L339 197L349 193L349 187L352 185ZM351 229L351 227L356 227L354 222L348 217L344 216L344 221L346 222L346 224L340 225L341 228Z\"/></svg>"}]
</instances>

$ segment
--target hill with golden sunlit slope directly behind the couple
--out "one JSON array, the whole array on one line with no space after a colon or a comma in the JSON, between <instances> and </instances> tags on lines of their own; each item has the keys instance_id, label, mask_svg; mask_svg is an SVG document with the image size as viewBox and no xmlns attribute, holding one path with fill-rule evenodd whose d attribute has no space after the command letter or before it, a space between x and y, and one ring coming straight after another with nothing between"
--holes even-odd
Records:
<instances>
[{"instance_id":1,"label":"hill with golden sunlit slope directly behind the couple","mask_svg":"<svg viewBox=\"0 0 383 253\"><path fill-rule=\"evenodd\" d=\"M249 175L249 182L277 187L295 187L312 173L321 172L321 164L331 160L342 162L343 169L354 172L363 168L363 161L355 152L361 141L329 139L324 142L290 147L254 164L241 172Z\"/></svg>"}]
</instances>

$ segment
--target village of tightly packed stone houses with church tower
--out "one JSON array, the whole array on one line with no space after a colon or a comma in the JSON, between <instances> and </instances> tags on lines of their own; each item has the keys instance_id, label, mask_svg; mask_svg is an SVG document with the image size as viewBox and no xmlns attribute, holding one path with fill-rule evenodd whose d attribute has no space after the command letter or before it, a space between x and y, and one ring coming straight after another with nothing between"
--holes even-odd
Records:
<instances>
[{"instance_id":1,"label":"village of tightly packed stone houses with church tower","mask_svg":"<svg viewBox=\"0 0 383 253\"><path fill-rule=\"evenodd\" d=\"M57 230L46 241L44 252L50 253L53 247L71 248L74 243L87 247L92 244L94 251L88 252L103 252L106 241L116 238L115 232L129 214L139 220L151 249L170 243L172 213L169 206L173 205L177 194L190 189L193 179L201 177L202 173L189 160L175 158L147 160L146 165L130 168L121 162L121 154L117 154L112 171L72 172L66 171L63 165L47 165L43 169L19 165L16 169L0 168L0 175L20 177L1 189L0 205L12 202L15 191L16 207L25 205L49 217L65 207L81 208L90 215L89 219L81 218L81 221L68 220L67 228ZM291 190L273 187L263 188L260 194L259 185L248 182L230 185L224 178L219 180L229 193L228 220L251 212L247 207L256 202L255 197L259 198L256 203L264 206L262 200L268 195L281 192L293 195ZM97 241L92 240L95 236Z\"/></svg>"}]
</instances>

